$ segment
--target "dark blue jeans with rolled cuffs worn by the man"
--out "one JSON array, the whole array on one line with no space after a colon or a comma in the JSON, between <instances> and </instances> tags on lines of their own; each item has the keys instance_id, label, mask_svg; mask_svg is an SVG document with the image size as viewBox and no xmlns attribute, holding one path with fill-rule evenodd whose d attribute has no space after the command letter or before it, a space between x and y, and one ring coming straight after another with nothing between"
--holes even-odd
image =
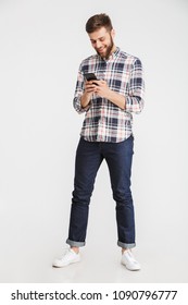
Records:
<instances>
[{"instance_id":1,"label":"dark blue jeans with rolled cuffs worn by the man","mask_svg":"<svg viewBox=\"0 0 188 305\"><path fill-rule=\"evenodd\" d=\"M121 143L87 142L80 138L75 162L75 179L72 199L70 231L66 243L84 246L88 223L90 197L99 167L105 159L116 202L117 245L135 246L135 216L130 191L130 174L134 137Z\"/></svg>"}]
</instances>

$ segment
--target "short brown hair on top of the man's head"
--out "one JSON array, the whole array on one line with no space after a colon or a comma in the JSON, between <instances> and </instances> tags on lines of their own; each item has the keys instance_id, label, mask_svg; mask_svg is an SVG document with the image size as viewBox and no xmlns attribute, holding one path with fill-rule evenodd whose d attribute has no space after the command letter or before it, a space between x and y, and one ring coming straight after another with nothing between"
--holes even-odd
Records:
<instances>
[{"instance_id":1,"label":"short brown hair on top of the man's head","mask_svg":"<svg viewBox=\"0 0 188 305\"><path fill-rule=\"evenodd\" d=\"M104 26L106 30L111 30L112 27L112 22L110 17L106 14L97 14L91 16L87 23L86 23L86 32L87 33L92 33L100 27Z\"/></svg>"}]
</instances>

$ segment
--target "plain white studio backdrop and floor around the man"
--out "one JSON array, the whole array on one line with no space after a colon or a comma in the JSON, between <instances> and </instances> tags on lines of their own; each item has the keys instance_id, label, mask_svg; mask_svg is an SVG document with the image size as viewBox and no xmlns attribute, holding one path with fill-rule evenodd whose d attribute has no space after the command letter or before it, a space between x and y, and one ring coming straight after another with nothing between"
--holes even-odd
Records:
<instances>
[{"instance_id":1,"label":"plain white studio backdrop and floor around the man","mask_svg":"<svg viewBox=\"0 0 188 305\"><path fill-rule=\"evenodd\" d=\"M105 163L83 261L53 269L67 237L83 115L72 106L85 23L108 13L115 45L139 57L146 107L135 115L133 194L140 272L120 265ZM187 282L188 2L0 1L0 281Z\"/></svg>"}]
</instances>

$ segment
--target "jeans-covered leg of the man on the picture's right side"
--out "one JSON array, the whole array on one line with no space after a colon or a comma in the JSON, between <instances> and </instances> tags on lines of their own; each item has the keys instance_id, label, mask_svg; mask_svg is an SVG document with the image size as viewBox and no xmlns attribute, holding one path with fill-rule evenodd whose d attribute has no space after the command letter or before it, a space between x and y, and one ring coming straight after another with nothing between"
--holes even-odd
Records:
<instances>
[{"instance_id":1,"label":"jeans-covered leg of the man on the picture's right side","mask_svg":"<svg viewBox=\"0 0 188 305\"><path fill-rule=\"evenodd\" d=\"M116 202L117 245L122 248L135 246L135 216L130 191L130 174L134 138L130 136L124 142L111 144L104 155Z\"/></svg>"}]
</instances>

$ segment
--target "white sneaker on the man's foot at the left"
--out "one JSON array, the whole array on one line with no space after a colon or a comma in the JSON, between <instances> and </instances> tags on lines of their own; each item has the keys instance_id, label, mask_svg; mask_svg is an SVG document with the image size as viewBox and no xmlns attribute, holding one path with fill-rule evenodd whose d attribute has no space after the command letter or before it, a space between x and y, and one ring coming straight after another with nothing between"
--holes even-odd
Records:
<instances>
[{"instance_id":1,"label":"white sneaker on the man's foot at the left","mask_svg":"<svg viewBox=\"0 0 188 305\"><path fill-rule=\"evenodd\" d=\"M67 248L61 258L57 258L53 261L53 267L65 267L70 264L77 263L80 260L80 254L75 253L72 248Z\"/></svg>"}]
</instances>

